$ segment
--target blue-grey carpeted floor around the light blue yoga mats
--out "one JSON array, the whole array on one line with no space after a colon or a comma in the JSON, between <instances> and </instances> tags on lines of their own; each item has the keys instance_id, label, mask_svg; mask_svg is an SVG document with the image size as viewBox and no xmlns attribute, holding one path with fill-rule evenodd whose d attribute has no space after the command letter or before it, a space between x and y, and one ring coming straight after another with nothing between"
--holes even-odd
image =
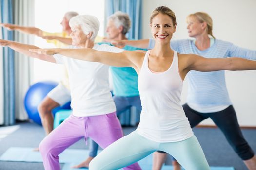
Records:
<instances>
[{"instance_id":1,"label":"blue-grey carpeted floor around the light blue yoga mats","mask_svg":"<svg viewBox=\"0 0 256 170\"><path fill-rule=\"evenodd\" d=\"M0 139L0 155L9 147L38 147L39 142L44 137L44 131L41 126L29 122L17 123L20 128L8 136ZM0 127L1 129L6 127ZM129 134L135 127L124 128L124 133ZM236 155L229 146L225 137L216 128L194 128L206 158L210 166L233 166L236 170L246 170L242 160ZM242 130L248 143L256 151L256 130ZM3 136L4 134L0 134ZM80 140L70 148L88 149L83 140ZM0 161L0 170L43 170L41 163L8 162Z\"/></svg>"}]
</instances>

